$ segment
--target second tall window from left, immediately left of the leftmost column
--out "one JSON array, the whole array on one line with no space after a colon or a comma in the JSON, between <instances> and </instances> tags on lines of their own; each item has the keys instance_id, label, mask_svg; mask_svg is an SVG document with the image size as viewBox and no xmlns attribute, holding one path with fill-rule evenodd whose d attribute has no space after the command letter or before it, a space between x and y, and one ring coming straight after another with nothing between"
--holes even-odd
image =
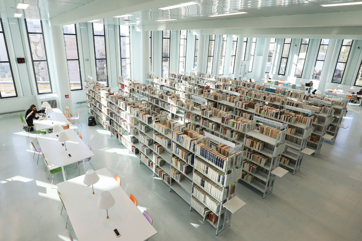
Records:
<instances>
[{"instance_id":1,"label":"second tall window from left, immediately left of the leftmost column","mask_svg":"<svg viewBox=\"0 0 362 241\"><path fill-rule=\"evenodd\" d=\"M25 25L38 94L52 93L42 21L39 19L25 19Z\"/></svg>"}]
</instances>

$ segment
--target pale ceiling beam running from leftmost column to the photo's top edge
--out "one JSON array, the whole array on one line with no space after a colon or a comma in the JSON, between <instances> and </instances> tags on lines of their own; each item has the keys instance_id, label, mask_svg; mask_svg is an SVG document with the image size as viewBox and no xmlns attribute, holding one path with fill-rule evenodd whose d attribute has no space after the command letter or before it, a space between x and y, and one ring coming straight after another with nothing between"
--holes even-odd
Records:
<instances>
[{"instance_id":1,"label":"pale ceiling beam running from leftmost column to the photo's top edge","mask_svg":"<svg viewBox=\"0 0 362 241\"><path fill-rule=\"evenodd\" d=\"M119 16L143 9L162 8L184 2L185 0L96 0L52 18L52 24L64 26Z\"/></svg>"}]
</instances>

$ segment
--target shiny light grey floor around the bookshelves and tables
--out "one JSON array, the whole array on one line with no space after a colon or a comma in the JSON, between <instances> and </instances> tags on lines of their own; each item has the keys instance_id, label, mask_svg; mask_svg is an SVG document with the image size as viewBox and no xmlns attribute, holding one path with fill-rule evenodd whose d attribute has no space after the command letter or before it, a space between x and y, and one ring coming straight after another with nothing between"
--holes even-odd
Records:
<instances>
[{"instance_id":1,"label":"shiny light grey floor around the bookshelves and tables","mask_svg":"<svg viewBox=\"0 0 362 241\"><path fill-rule=\"evenodd\" d=\"M334 145L324 143L316 158L304 156L300 172L277 178L265 199L238 183L236 195L247 205L218 237L100 124L87 126L87 109L80 110L79 130L95 153L94 168L117 173L126 193L147 208L158 231L150 240L362 240L362 107L349 109L343 122L349 127L340 130ZM75 233L69 223L65 228L67 212L60 215L62 204L50 188L43 158L37 165L19 118L1 119L0 125L0 240L69 240L68 232ZM68 178L79 175L75 164L66 170ZM61 181L62 174L56 174L54 183Z\"/></svg>"}]
</instances>

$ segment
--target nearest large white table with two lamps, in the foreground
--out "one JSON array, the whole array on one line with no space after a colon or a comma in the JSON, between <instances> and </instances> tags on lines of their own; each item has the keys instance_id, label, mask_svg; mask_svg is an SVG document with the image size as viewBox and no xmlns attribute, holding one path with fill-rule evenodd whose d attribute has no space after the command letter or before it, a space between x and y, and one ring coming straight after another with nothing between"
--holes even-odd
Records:
<instances>
[{"instance_id":1,"label":"nearest large white table with two lamps, in the foreground","mask_svg":"<svg viewBox=\"0 0 362 241\"><path fill-rule=\"evenodd\" d=\"M129 196L106 168L97 170L99 181L92 187L83 183L84 175L58 183L64 206L78 240L144 241L157 233ZM97 207L100 194L109 191L114 206L106 210ZM152 214L151 214L152 215ZM121 234L116 237L113 229Z\"/></svg>"}]
</instances>

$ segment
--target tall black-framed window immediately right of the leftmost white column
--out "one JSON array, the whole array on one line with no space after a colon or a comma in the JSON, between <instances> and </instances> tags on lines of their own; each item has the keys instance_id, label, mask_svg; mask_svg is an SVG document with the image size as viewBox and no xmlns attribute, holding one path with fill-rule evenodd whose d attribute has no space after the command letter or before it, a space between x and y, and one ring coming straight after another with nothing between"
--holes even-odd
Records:
<instances>
[{"instance_id":1,"label":"tall black-framed window immediately right of the leftmost white column","mask_svg":"<svg viewBox=\"0 0 362 241\"><path fill-rule=\"evenodd\" d=\"M64 43L66 46L66 56L68 74L71 90L82 89L80 75L79 52L77 43L77 30L75 24L63 26Z\"/></svg>"}]
</instances>

